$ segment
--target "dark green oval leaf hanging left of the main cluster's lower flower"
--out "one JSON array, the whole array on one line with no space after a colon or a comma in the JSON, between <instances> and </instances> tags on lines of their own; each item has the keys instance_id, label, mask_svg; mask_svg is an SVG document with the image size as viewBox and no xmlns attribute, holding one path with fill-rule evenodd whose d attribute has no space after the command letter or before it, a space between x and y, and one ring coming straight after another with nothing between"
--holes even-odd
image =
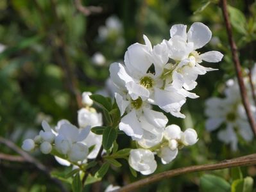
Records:
<instances>
[{"instance_id":1,"label":"dark green oval leaf hanging left of the main cluster's lower flower","mask_svg":"<svg viewBox=\"0 0 256 192\"><path fill-rule=\"evenodd\" d=\"M113 127L106 127L103 131L102 145L105 150L112 147L112 144L117 138L117 131Z\"/></svg>"}]
</instances>

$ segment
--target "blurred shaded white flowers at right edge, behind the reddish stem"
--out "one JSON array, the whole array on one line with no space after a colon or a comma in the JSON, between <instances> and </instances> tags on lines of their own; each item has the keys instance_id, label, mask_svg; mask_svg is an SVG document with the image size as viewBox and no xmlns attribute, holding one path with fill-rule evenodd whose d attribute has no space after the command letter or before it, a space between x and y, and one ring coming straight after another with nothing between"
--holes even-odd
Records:
<instances>
[{"instance_id":1,"label":"blurred shaded white flowers at right edge, behind the reddish stem","mask_svg":"<svg viewBox=\"0 0 256 192\"><path fill-rule=\"evenodd\" d=\"M256 67L253 68L253 84L256 84ZM252 90L248 78L244 78L246 82L246 90L251 96ZM230 79L226 82L225 97L211 97L205 102L207 115L206 129L207 131L215 131L221 125L225 125L225 129L218 132L218 139L226 144L230 144L232 150L237 150L238 137L241 136L245 141L252 141L253 132L248 123L246 111L244 109L239 85L236 79ZM252 97L250 97L250 108L256 118L256 108L253 105Z\"/></svg>"}]
</instances>

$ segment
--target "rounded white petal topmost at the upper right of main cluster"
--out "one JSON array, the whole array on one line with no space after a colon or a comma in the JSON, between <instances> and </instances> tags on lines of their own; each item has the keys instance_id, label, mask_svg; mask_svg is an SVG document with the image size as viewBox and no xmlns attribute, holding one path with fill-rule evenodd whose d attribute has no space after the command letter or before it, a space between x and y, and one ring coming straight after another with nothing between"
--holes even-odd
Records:
<instances>
[{"instance_id":1,"label":"rounded white petal topmost at the upper right of main cluster","mask_svg":"<svg viewBox=\"0 0 256 192\"><path fill-rule=\"evenodd\" d=\"M212 32L201 22L194 22L187 33L187 40L194 43L194 49L199 49L206 45L210 38L212 38Z\"/></svg>"}]
</instances>

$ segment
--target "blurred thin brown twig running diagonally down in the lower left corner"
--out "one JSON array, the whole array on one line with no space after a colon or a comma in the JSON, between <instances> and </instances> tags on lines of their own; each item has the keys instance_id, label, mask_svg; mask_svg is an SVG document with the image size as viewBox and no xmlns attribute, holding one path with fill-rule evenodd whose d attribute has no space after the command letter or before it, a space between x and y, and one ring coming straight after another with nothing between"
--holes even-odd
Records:
<instances>
[{"instance_id":1,"label":"blurred thin brown twig running diagonally down in the lower left corner","mask_svg":"<svg viewBox=\"0 0 256 192\"><path fill-rule=\"evenodd\" d=\"M67 191L67 189L64 188L64 186L62 185L62 182L60 182L60 180L51 177L49 170L47 169L46 166L44 166L44 164L37 161L37 159L30 156L30 154L28 154L27 152L24 152L24 150L22 150L17 145L15 145L15 143L13 143L12 141L7 140L1 136L0 136L0 143L3 143L7 147L9 147L12 150L14 150L15 152L17 152L17 154L20 154L21 157L23 157L24 160L26 160L28 163L33 164L38 170L40 170L42 173L47 175L47 177L49 177L49 179L51 179L53 182L55 182L55 184L57 184L62 191Z\"/></svg>"}]
</instances>

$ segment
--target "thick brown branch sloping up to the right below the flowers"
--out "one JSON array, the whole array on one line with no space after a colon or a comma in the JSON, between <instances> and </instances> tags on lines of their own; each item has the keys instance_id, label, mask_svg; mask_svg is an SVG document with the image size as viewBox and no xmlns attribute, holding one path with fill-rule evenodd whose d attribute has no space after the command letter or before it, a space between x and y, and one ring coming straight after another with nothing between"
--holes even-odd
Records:
<instances>
[{"instance_id":1,"label":"thick brown branch sloping up to the right below the flowers","mask_svg":"<svg viewBox=\"0 0 256 192\"><path fill-rule=\"evenodd\" d=\"M137 188L141 188L142 186L146 186L153 182L157 182L158 180L168 179L174 177L176 175L182 175L187 173L194 172L203 172L209 170L221 170L225 168L232 168L236 166L250 166L256 164L256 154L252 154L249 156L238 157L230 160L221 161L216 164L202 164L196 166L187 166L184 168L178 168L175 170L170 170L163 173L158 173L156 175L152 175L151 177L147 177L146 179L138 180L137 182L133 182L132 184L128 184L121 189L117 189L117 191L134 191Z\"/></svg>"}]
</instances>

